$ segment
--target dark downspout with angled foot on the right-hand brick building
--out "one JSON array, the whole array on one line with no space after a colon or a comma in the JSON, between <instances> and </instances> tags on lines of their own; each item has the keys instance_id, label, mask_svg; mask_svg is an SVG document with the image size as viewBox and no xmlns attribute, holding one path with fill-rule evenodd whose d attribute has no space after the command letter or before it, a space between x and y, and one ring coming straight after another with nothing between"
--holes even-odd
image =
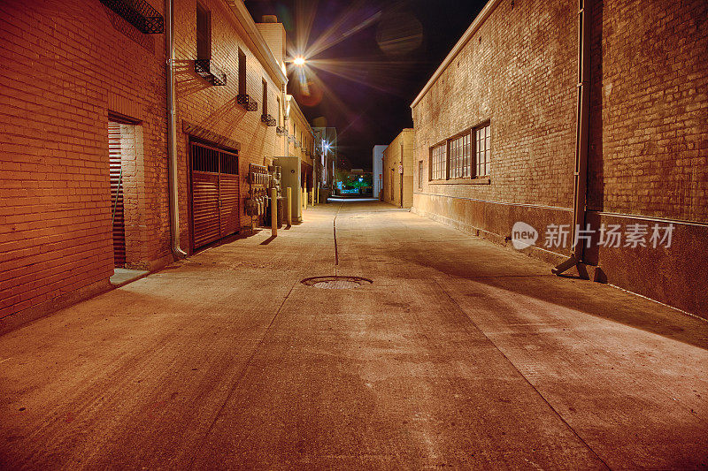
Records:
<instances>
[{"instance_id":1,"label":"dark downspout with angled foot on the right-hand brick building","mask_svg":"<svg viewBox=\"0 0 708 471\"><path fill-rule=\"evenodd\" d=\"M575 127L575 183L573 186L573 231L570 258L551 270L560 275L573 266L581 277L587 277L583 262L584 244L576 240L579 229L585 229L585 205L588 186L588 127L590 110L590 28L589 0L578 0L578 107Z\"/></svg>"}]
</instances>

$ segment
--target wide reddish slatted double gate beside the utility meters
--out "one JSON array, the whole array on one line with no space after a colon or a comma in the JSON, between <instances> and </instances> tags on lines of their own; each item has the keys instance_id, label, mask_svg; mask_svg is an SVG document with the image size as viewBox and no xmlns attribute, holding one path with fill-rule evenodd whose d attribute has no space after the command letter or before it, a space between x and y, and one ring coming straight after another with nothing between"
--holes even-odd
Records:
<instances>
[{"instance_id":1,"label":"wide reddish slatted double gate beside the utility meters","mask_svg":"<svg viewBox=\"0 0 708 471\"><path fill-rule=\"evenodd\" d=\"M238 155L199 142L190 142L190 154L196 249L239 230Z\"/></svg>"}]
</instances>

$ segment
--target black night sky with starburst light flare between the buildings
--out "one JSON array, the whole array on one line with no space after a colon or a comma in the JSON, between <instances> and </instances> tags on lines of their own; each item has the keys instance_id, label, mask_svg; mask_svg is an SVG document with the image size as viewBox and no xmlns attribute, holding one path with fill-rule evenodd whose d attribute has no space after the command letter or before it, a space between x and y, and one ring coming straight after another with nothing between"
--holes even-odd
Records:
<instances>
[{"instance_id":1,"label":"black night sky with starburst light flare between the buildings","mask_svg":"<svg viewBox=\"0 0 708 471\"><path fill-rule=\"evenodd\" d=\"M482 0L246 0L253 18L276 15L289 56L289 94L310 120L335 126L340 156L371 169L372 148L412 127L410 104L472 24ZM308 34L308 18L312 27Z\"/></svg>"}]
</instances>

